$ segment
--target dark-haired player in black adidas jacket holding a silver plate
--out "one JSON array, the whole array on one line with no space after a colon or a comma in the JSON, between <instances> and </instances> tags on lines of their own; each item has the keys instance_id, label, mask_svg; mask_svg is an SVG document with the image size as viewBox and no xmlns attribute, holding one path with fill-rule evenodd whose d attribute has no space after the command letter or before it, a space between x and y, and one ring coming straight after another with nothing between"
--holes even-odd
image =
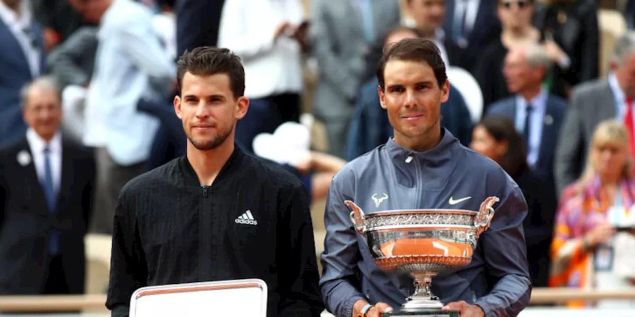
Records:
<instances>
[{"instance_id":1,"label":"dark-haired player in black adidas jacket holding a silver plate","mask_svg":"<svg viewBox=\"0 0 635 317\"><path fill-rule=\"evenodd\" d=\"M249 105L241 61L227 49L196 48L180 58L177 76L187 155L121 190L106 306L128 316L140 287L261 278L267 316L319 316L307 191L234 144Z\"/></svg>"}]
</instances>

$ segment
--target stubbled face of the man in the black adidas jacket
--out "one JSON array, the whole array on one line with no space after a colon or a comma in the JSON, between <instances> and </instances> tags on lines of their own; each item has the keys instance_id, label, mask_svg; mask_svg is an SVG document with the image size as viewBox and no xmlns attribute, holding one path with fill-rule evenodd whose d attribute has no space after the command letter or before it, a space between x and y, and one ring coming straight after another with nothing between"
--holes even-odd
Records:
<instances>
[{"instance_id":1,"label":"stubbled face of the man in the black adidas jacket","mask_svg":"<svg viewBox=\"0 0 635 317\"><path fill-rule=\"evenodd\" d=\"M186 72L181 86L181 95L174 98L174 109L190 143L207 151L228 138L233 142L234 126L247 113L249 100L234 98L229 75L199 76Z\"/></svg>"}]
</instances>

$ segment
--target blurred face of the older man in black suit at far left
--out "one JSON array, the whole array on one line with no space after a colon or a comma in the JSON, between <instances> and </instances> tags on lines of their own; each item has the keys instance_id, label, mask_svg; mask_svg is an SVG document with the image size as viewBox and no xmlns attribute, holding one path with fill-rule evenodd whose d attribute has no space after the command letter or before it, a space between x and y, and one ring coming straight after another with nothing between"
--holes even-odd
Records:
<instances>
[{"instance_id":1,"label":"blurred face of the older man in black suit at far left","mask_svg":"<svg viewBox=\"0 0 635 317\"><path fill-rule=\"evenodd\" d=\"M41 138L53 138L62 120L60 96L51 89L32 87L23 106L22 117Z\"/></svg>"}]
</instances>

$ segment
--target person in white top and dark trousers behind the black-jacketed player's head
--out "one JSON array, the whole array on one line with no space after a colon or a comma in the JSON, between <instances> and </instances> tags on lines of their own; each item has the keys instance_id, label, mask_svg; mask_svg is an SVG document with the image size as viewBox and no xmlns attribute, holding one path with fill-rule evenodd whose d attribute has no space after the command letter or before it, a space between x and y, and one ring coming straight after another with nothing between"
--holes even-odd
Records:
<instances>
[{"instance_id":1,"label":"person in white top and dark trousers behind the black-jacketed player's head","mask_svg":"<svg viewBox=\"0 0 635 317\"><path fill-rule=\"evenodd\" d=\"M236 142L251 150L253 138L283 122L300 121L302 48L308 24L300 0L230 0L220 20L218 46L243 61L249 112L236 126Z\"/></svg>"}]
</instances>

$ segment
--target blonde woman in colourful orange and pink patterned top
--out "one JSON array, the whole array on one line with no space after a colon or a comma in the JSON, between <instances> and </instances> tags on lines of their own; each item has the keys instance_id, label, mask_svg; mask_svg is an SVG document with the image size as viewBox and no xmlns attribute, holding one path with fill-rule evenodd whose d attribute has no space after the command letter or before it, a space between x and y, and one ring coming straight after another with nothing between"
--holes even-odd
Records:
<instances>
[{"instance_id":1,"label":"blonde woman in colourful orange and pink patterned top","mask_svg":"<svg viewBox=\"0 0 635 317\"><path fill-rule=\"evenodd\" d=\"M550 286L635 290L635 180L629 134L607 120L591 139L582 178L565 189L556 215ZM635 301L569 302L568 306L633 307Z\"/></svg>"}]
</instances>

